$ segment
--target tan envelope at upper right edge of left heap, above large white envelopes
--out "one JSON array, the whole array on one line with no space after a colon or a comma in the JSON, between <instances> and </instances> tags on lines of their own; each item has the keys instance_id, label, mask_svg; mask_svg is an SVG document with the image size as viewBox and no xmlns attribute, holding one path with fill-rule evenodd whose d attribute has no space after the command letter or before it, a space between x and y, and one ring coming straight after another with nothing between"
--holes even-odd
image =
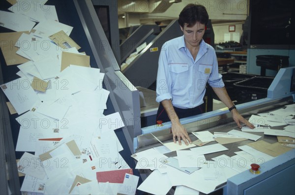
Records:
<instances>
[{"instance_id":1,"label":"tan envelope at upper right edge of left heap, above large white envelopes","mask_svg":"<svg viewBox=\"0 0 295 195\"><path fill-rule=\"evenodd\" d=\"M63 71L71 64L77 66L90 67L90 56L62 51L60 71Z\"/></svg>"}]
</instances>

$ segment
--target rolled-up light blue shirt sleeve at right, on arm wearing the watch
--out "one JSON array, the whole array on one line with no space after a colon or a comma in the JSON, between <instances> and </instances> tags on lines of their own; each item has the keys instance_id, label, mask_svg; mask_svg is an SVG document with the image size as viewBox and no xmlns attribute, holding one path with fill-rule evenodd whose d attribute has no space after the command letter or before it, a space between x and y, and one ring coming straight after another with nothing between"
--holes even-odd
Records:
<instances>
[{"instance_id":1,"label":"rolled-up light blue shirt sleeve at right, on arm wearing the watch","mask_svg":"<svg viewBox=\"0 0 295 195\"><path fill-rule=\"evenodd\" d=\"M218 63L217 63L217 56L216 56L215 50L213 48L210 48L210 52L212 53L212 58L213 58L213 69L209 76L208 84L214 88L224 87L222 75L218 73Z\"/></svg>"}]
</instances>

